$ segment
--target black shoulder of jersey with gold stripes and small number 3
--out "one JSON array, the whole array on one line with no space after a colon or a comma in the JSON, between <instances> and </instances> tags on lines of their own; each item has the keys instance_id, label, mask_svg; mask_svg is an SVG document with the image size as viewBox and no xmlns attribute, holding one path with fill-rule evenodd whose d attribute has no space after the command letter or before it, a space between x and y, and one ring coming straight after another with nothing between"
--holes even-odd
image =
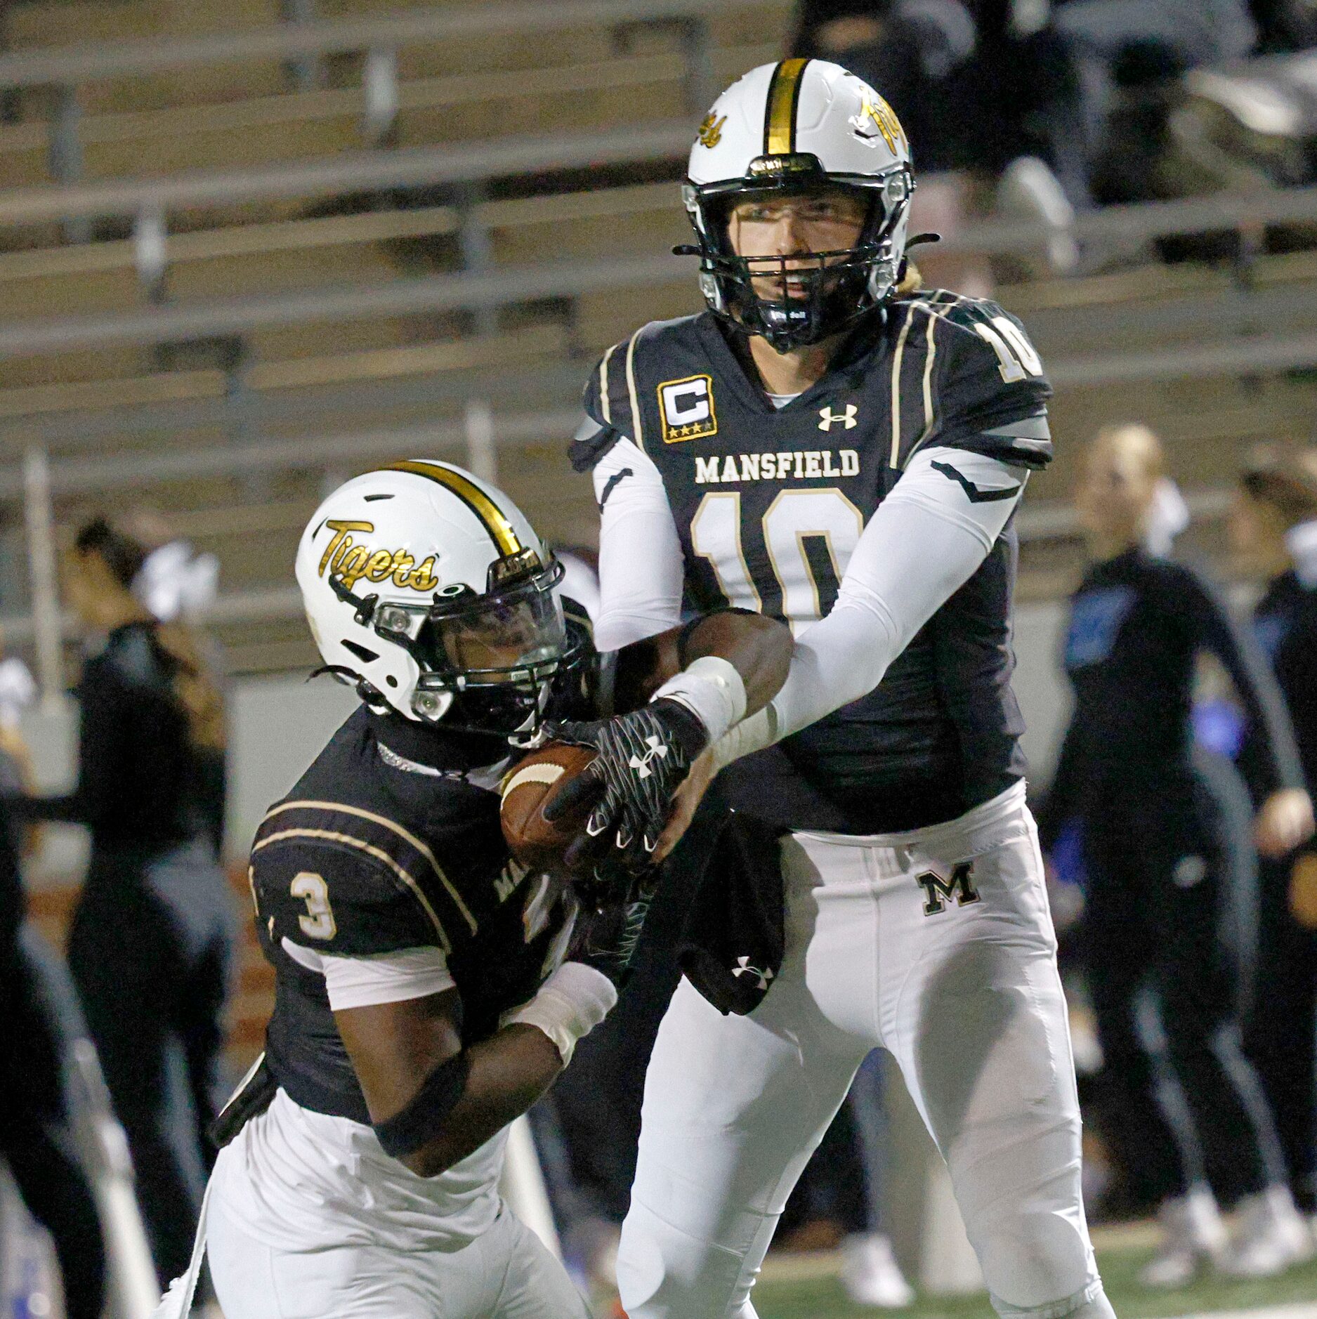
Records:
<instances>
[{"instance_id":1,"label":"black shoulder of jersey with gold stripes and small number 3","mask_svg":"<svg viewBox=\"0 0 1317 1319\"><path fill-rule=\"evenodd\" d=\"M421 946L450 952L454 940L476 930L422 839L384 815L339 802L293 799L272 807L252 844L252 886L260 919L288 926L267 935L277 943L286 934L321 952ZM315 909L318 900L327 911Z\"/></svg>"}]
</instances>

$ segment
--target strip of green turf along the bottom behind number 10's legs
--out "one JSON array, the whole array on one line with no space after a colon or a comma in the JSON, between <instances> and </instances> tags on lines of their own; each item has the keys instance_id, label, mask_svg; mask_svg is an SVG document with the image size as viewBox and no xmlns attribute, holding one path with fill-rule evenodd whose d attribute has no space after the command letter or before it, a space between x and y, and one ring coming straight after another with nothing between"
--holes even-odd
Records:
<instances>
[{"instance_id":1,"label":"strip of green turf along the bottom behind number 10's legs","mask_svg":"<svg viewBox=\"0 0 1317 1319\"><path fill-rule=\"evenodd\" d=\"M1231 1282L1206 1277L1176 1291L1147 1291L1139 1287L1139 1268L1148 1260L1147 1249L1107 1249L1098 1252L1107 1295L1120 1319L1163 1319L1163 1316L1200 1314L1210 1310L1252 1310L1266 1306L1310 1302L1317 1319L1317 1261L1292 1269L1280 1278L1263 1282ZM802 1275L790 1278L785 1261L771 1262L765 1277L755 1287L759 1319L874 1319L884 1314L851 1304L834 1277ZM819 1269L804 1265L802 1273ZM987 1297L928 1299L909 1310L887 1311L903 1319L992 1319Z\"/></svg>"}]
</instances>

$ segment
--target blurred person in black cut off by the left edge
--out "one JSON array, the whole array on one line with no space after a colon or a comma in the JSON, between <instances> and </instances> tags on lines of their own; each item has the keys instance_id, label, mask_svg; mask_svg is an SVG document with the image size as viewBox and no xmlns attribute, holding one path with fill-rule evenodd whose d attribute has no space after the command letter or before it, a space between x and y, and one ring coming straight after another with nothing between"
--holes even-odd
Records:
<instances>
[{"instance_id":1,"label":"blurred person in black cut off by the left edge","mask_svg":"<svg viewBox=\"0 0 1317 1319\"><path fill-rule=\"evenodd\" d=\"M5 794L26 786L26 748L16 715L32 691L21 661L0 661L0 791ZM69 1319L100 1319L106 1254L96 1202L71 1153L58 1033L18 939L25 910L21 852L21 826L0 803L0 1155L54 1241Z\"/></svg>"}]
</instances>

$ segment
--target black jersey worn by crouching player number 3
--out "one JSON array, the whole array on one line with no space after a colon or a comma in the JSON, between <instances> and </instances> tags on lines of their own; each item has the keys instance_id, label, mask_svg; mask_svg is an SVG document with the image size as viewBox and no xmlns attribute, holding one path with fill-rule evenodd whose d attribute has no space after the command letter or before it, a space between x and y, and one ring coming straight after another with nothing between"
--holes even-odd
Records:
<instances>
[{"instance_id":1,"label":"black jersey worn by crouching player number 3","mask_svg":"<svg viewBox=\"0 0 1317 1319\"><path fill-rule=\"evenodd\" d=\"M574 904L508 853L499 766L488 766L505 751L362 707L263 820L249 878L276 971L267 1059L302 1107L369 1121L306 952L442 948L467 1045L491 1035L561 960Z\"/></svg>"}]
</instances>

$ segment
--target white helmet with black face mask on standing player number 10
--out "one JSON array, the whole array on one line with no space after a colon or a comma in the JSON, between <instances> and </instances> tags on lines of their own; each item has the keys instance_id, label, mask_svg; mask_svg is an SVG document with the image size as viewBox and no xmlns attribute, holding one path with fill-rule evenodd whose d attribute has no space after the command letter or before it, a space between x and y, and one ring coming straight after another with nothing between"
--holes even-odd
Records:
<instances>
[{"instance_id":1,"label":"white helmet with black face mask on standing player number 10","mask_svg":"<svg viewBox=\"0 0 1317 1319\"><path fill-rule=\"evenodd\" d=\"M785 257L739 257L727 237L731 207L748 195L854 189L868 218L854 248L790 257L798 277L814 262L804 298L787 297ZM699 240L699 288L710 309L779 350L817 343L880 306L900 282L909 223L911 149L891 106L868 83L826 59L760 65L705 116L682 187ZM806 265L806 269L810 269ZM752 280L781 276L783 295L759 297Z\"/></svg>"}]
</instances>

